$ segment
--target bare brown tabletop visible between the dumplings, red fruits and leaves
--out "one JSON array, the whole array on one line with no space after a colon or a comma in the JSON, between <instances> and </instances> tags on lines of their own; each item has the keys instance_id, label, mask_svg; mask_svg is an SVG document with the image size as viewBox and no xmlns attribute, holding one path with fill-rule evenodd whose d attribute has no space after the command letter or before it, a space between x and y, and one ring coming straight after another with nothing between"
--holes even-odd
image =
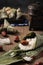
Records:
<instances>
[{"instance_id":1,"label":"bare brown tabletop visible between the dumplings, red fruits and leaves","mask_svg":"<svg viewBox=\"0 0 43 65\"><path fill-rule=\"evenodd\" d=\"M29 26L16 26L16 27L14 27L14 29L16 29L16 30L18 30L20 33L18 34L18 36L19 36L19 38L20 38L20 40L22 40L23 39L23 37L26 35L26 34L28 34L29 32L31 32L31 31L29 31ZM39 34L43 34L43 31L34 31L35 33L39 33ZM10 38L10 40L11 40L11 45L4 45L3 46L3 49L5 50L5 51L8 51L8 50L10 50L10 49L12 49L12 48L14 48L18 43L15 43L14 42L14 39L15 39L15 34L14 35L8 35L9 36L9 38ZM0 38L1 38L2 36L1 36L1 34L0 34ZM0 52L0 54L3 54L4 52ZM15 63L15 65L34 65L34 63L35 62L39 62L39 61L41 61L41 62L43 62L43 53L41 53L41 54L39 54L40 56L40 58L38 58L38 59L36 59L36 60L34 60L34 62L31 62L31 63L29 63L29 62L18 62L18 63ZM13 64L12 64L13 65Z\"/></svg>"}]
</instances>

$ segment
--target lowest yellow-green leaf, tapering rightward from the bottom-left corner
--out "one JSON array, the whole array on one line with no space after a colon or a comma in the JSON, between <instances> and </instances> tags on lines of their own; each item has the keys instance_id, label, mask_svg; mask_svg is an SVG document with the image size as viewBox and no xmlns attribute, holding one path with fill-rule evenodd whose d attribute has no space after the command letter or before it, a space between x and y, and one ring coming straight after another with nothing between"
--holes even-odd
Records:
<instances>
[{"instance_id":1,"label":"lowest yellow-green leaf, tapering rightward from the bottom-left corner","mask_svg":"<svg viewBox=\"0 0 43 65\"><path fill-rule=\"evenodd\" d=\"M11 63L15 63L15 62L19 62L22 61L23 59L20 57L10 57L10 56L4 56L2 58L0 58L0 64L1 65L7 65L7 64L11 64Z\"/></svg>"}]
</instances>

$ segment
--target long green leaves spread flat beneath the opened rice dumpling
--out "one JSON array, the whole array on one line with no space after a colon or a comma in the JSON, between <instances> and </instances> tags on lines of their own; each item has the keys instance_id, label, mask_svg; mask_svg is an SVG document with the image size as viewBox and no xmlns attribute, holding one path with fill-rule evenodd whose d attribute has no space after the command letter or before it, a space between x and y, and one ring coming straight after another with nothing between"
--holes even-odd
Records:
<instances>
[{"instance_id":1,"label":"long green leaves spread flat beneath the opened rice dumpling","mask_svg":"<svg viewBox=\"0 0 43 65\"><path fill-rule=\"evenodd\" d=\"M23 61L23 56L37 56L41 51L43 51L43 46L36 48L31 51L23 51L16 47L13 50L9 50L2 56L0 56L0 65L9 65L11 63L16 63L19 61ZM12 54L13 53L13 54Z\"/></svg>"}]
</instances>

